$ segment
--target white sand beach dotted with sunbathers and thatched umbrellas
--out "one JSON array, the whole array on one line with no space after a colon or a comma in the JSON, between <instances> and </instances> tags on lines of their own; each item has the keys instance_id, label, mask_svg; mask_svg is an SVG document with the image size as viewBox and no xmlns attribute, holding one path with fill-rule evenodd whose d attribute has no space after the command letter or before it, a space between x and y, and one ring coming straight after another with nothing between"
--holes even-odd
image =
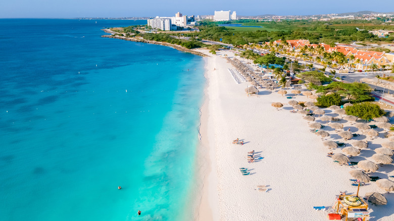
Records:
<instances>
[{"instance_id":1,"label":"white sand beach dotted with sunbathers and thatched umbrellas","mask_svg":"<svg viewBox=\"0 0 394 221\"><path fill-rule=\"evenodd\" d=\"M201 49L207 53L207 51ZM249 82L236 84L228 69L234 69L220 54L206 58L206 102L202 108L202 152L206 168L198 220L327 220L327 211L315 211L313 206L333 205L340 191L356 193L352 186L348 165L339 165L327 157L330 152L323 141L310 132L308 122L298 113L291 113L289 99L277 92L260 89L258 96L247 96L244 89ZM242 60L238 57L239 60ZM216 69L216 70L214 70ZM291 89L290 89L291 90ZM290 91L288 90L288 91ZM289 96L294 96L288 94ZM313 101L303 95L297 101ZM284 105L277 111L272 102ZM326 109L329 116L338 116ZM316 122L322 123L318 118ZM361 122L361 121L360 121ZM360 133L351 122L341 120L343 130ZM328 125L328 124L325 124ZM326 126L330 137L325 140L344 141ZM376 129L381 132L382 129ZM232 144L239 138L244 145ZM368 140L361 135L349 141ZM369 149L362 150L351 161L371 159L371 149L387 141L382 133L372 140ZM255 150L256 162L248 163L248 151ZM332 150L340 153L341 148ZM242 176L239 168L251 173ZM354 169L358 169L357 166ZM394 175L394 165L384 165L371 176L387 178ZM392 180L392 178L391 178ZM258 191L257 185L266 185L268 192ZM367 192L385 193L374 182L360 187L360 195ZM394 220L394 194L384 194L387 205L370 205L370 220Z\"/></svg>"}]
</instances>

